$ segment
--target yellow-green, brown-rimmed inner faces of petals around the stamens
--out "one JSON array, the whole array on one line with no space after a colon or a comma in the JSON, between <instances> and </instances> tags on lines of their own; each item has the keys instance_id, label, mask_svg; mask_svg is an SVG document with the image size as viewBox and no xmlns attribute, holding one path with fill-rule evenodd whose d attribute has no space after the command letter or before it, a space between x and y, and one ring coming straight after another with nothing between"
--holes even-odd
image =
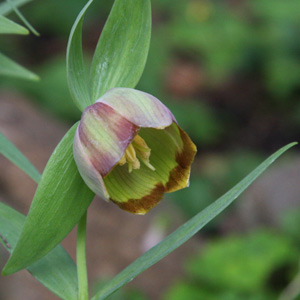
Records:
<instances>
[{"instance_id":1,"label":"yellow-green, brown-rimmed inner faces of petals around the stamens","mask_svg":"<svg viewBox=\"0 0 300 300\"><path fill-rule=\"evenodd\" d=\"M127 165L118 165L104 178L104 184L120 208L145 214L165 192L188 186L196 146L176 123L165 129L142 128L139 135L151 149L150 163L155 171L142 162L141 168L131 173Z\"/></svg>"}]
</instances>

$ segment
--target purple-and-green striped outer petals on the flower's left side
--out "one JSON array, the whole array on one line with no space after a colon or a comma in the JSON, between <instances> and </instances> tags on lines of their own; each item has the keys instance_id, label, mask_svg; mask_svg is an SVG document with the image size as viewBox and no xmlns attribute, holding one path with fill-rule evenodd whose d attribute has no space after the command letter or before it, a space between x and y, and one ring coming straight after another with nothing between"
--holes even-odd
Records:
<instances>
[{"instance_id":1,"label":"purple-and-green striped outer petals on the flower's left side","mask_svg":"<svg viewBox=\"0 0 300 300\"><path fill-rule=\"evenodd\" d=\"M101 177L118 163L138 130L104 103L85 109L74 139L74 158L84 181L100 197L108 198Z\"/></svg>"}]
</instances>

